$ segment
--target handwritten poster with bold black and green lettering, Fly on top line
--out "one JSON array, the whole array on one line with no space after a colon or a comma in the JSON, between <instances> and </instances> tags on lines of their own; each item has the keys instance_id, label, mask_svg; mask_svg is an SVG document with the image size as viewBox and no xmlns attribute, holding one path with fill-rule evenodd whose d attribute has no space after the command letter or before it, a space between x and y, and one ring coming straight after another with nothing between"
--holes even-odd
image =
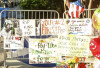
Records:
<instances>
[{"instance_id":1,"label":"handwritten poster with bold black and green lettering, Fly on top line","mask_svg":"<svg viewBox=\"0 0 100 68\"><path fill-rule=\"evenodd\" d=\"M29 63L55 63L56 39L29 39Z\"/></svg>"}]
</instances>

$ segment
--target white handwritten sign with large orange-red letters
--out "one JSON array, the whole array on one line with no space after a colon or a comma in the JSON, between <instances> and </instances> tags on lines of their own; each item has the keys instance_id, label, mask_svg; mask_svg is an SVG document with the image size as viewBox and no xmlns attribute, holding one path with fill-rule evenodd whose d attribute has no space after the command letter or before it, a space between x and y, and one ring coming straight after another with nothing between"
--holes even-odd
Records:
<instances>
[{"instance_id":1,"label":"white handwritten sign with large orange-red letters","mask_svg":"<svg viewBox=\"0 0 100 68\"><path fill-rule=\"evenodd\" d=\"M66 23L63 19L42 19L41 35L58 35L66 31Z\"/></svg>"}]
</instances>

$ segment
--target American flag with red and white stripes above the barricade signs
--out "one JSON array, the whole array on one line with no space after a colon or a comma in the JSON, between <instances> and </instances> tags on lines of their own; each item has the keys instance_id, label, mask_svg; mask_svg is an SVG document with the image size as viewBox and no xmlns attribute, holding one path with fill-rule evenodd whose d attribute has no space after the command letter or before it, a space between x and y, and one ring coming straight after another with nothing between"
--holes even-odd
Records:
<instances>
[{"instance_id":1,"label":"American flag with red and white stripes above the barricade signs","mask_svg":"<svg viewBox=\"0 0 100 68\"><path fill-rule=\"evenodd\" d=\"M75 1L69 3L69 10L68 15L71 16L71 18L79 18L80 14L84 11L84 7L81 4L81 1Z\"/></svg>"}]
</instances>

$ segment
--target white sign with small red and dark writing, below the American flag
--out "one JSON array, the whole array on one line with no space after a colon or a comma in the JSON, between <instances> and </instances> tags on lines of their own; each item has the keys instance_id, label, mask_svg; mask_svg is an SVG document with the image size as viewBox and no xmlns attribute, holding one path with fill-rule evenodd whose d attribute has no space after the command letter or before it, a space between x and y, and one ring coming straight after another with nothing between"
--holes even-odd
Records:
<instances>
[{"instance_id":1,"label":"white sign with small red and dark writing, below the American flag","mask_svg":"<svg viewBox=\"0 0 100 68\"><path fill-rule=\"evenodd\" d=\"M91 19L68 19L69 34L92 35Z\"/></svg>"}]
</instances>

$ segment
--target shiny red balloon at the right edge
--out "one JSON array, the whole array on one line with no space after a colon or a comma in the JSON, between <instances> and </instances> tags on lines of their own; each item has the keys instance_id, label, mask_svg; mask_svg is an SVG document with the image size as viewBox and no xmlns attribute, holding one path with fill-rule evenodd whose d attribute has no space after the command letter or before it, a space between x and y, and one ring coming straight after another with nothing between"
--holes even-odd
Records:
<instances>
[{"instance_id":1,"label":"shiny red balloon at the right edge","mask_svg":"<svg viewBox=\"0 0 100 68\"><path fill-rule=\"evenodd\" d=\"M93 56L100 60L100 37L94 38L90 41L90 50Z\"/></svg>"}]
</instances>

